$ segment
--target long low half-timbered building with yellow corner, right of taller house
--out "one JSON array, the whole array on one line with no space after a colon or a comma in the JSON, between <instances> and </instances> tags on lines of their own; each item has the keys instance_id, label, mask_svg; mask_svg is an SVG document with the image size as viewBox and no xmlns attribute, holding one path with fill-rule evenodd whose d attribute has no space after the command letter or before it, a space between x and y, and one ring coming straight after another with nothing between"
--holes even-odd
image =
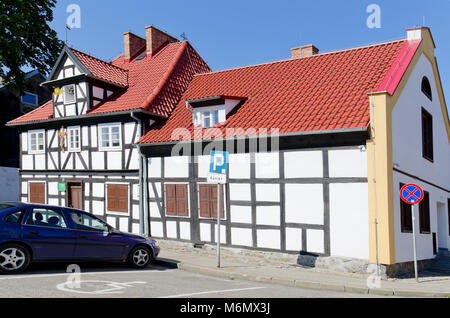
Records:
<instances>
[{"instance_id":1,"label":"long low half-timbered building with yellow corner, right of taller house","mask_svg":"<svg viewBox=\"0 0 450 318\"><path fill-rule=\"evenodd\" d=\"M150 234L216 242L218 194L206 177L210 150L221 149L230 153L219 194L224 245L318 256L350 270L378 259L392 273L413 256L402 184L427 193L416 217L419 260L450 246L449 141L428 28L199 74L169 119L140 140Z\"/></svg>"}]
</instances>

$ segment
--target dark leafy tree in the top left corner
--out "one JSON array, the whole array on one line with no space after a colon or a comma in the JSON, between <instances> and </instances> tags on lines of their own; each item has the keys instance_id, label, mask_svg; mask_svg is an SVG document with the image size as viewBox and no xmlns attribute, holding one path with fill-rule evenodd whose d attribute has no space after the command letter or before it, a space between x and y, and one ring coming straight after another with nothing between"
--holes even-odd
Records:
<instances>
[{"instance_id":1,"label":"dark leafy tree in the top left corner","mask_svg":"<svg viewBox=\"0 0 450 318\"><path fill-rule=\"evenodd\" d=\"M0 1L0 77L20 93L25 88L23 67L47 74L63 42L50 28L56 0Z\"/></svg>"}]
</instances>

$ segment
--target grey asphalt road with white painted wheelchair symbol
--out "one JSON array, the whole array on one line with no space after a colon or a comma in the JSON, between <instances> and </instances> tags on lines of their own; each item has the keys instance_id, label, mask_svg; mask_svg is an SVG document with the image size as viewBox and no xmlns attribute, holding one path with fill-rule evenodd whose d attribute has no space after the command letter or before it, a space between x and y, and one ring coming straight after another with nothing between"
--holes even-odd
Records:
<instances>
[{"instance_id":1,"label":"grey asphalt road with white painted wheelchair symbol","mask_svg":"<svg viewBox=\"0 0 450 318\"><path fill-rule=\"evenodd\" d=\"M18 275L0 276L1 297L73 298L310 298L369 297L226 280L151 265L133 270L122 264L80 264L81 273L66 272L68 264L33 264ZM370 297L373 297L372 295Z\"/></svg>"}]
</instances>

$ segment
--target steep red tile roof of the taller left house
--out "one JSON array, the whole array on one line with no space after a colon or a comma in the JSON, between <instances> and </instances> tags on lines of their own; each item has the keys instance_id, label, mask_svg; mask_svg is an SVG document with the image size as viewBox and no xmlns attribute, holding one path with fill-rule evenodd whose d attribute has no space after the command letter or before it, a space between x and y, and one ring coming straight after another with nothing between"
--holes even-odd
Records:
<instances>
[{"instance_id":1,"label":"steep red tile roof of the taller left house","mask_svg":"<svg viewBox=\"0 0 450 318\"><path fill-rule=\"evenodd\" d=\"M111 95L88 111L90 114L144 109L167 117L177 105L195 73L211 69L188 42L167 44L158 53L140 61L125 62L120 55L111 63L73 50L95 77L125 84L127 87ZM126 76L125 76L126 75ZM9 122L34 122L53 117L51 102Z\"/></svg>"}]
</instances>

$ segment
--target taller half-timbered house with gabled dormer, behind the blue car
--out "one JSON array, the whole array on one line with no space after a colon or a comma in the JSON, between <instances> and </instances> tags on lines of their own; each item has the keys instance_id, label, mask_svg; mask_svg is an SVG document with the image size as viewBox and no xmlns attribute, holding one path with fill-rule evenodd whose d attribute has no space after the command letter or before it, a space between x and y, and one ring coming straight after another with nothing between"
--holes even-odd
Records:
<instances>
[{"instance_id":1,"label":"taller half-timbered house with gabled dormer, behind the blue car","mask_svg":"<svg viewBox=\"0 0 450 318\"><path fill-rule=\"evenodd\" d=\"M53 99L9 122L21 135L21 200L84 209L144 233L135 144L167 118L193 75L209 70L188 42L153 26L145 39L125 32L112 62L64 47L43 83Z\"/></svg>"}]
</instances>

